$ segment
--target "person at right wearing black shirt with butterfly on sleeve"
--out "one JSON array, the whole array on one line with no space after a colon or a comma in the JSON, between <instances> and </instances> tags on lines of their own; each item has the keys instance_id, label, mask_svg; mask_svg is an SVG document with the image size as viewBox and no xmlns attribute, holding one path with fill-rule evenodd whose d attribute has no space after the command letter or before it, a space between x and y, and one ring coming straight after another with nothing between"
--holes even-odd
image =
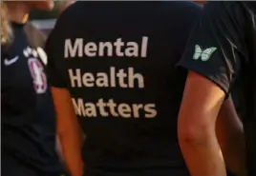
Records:
<instances>
[{"instance_id":1,"label":"person at right wearing black shirt with butterfly on sleeve","mask_svg":"<svg viewBox=\"0 0 256 176\"><path fill-rule=\"evenodd\" d=\"M226 166L236 175L256 175L255 16L255 2L207 3L178 64L189 70L178 129L181 151L192 176L225 175L218 155L220 147ZM245 137L242 124L234 118L230 99L234 88L242 101ZM229 110L217 118L224 100ZM216 133L215 128L222 132ZM218 135L229 138L229 143L221 140L218 144Z\"/></svg>"}]
</instances>

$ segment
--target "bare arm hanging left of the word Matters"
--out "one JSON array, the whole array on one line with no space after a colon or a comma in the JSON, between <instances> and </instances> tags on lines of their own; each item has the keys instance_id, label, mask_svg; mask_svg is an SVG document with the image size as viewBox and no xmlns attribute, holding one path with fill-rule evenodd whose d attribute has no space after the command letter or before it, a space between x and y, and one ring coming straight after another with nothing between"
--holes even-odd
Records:
<instances>
[{"instance_id":1,"label":"bare arm hanging left of the word Matters","mask_svg":"<svg viewBox=\"0 0 256 176\"><path fill-rule=\"evenodd\" d=\"M72 176L82 176L82 137L70 93L65 88L52 88L52 92L56 110L57 134L65 162Z\"/></svg>"}]
</instances>

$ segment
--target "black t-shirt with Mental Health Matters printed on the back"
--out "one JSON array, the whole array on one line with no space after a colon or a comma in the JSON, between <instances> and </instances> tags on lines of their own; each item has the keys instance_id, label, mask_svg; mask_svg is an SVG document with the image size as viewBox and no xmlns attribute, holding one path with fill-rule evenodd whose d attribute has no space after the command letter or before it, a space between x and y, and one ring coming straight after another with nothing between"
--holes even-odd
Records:
<instances>
[{"instance_id":1,"label":"black t-shirt with Mental Health Matters printed on the back","mask_svg":"<svg viewBox=\"0 0 256 176\"><path fill-rule=\"evenodd\" d=\"M188 176L177 137L186 71L176 68L201 7L76 2L46 44L86 134L86 176Z\"/></svg>"}]
</instances>

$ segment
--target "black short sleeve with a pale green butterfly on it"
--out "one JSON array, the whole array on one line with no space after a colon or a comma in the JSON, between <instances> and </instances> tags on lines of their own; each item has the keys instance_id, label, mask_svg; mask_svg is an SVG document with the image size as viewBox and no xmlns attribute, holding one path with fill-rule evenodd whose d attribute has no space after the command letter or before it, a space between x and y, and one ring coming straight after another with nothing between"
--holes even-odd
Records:
<instances>
[{"instance_id":1,"label":"black short sleeve with a pale green butterfly on it","mask_svg":"<svg viewBox=\"0 0 256 176\"><path fill-rule=\"evenodd\" d=\"M198 72L229 94L245 59L242 26L237 2L207 3L178 66Z\"/></svg>"}]
</instances>

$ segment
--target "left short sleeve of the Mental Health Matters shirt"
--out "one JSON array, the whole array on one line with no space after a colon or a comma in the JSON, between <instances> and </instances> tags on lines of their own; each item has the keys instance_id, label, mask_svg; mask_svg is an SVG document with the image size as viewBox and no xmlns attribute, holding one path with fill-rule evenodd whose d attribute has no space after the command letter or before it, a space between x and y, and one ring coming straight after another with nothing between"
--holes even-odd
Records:
<instances>
[{"instance_id":1,"label":"left short sleeve of the Mental Health Matters shirt","mask_svg":"<svg viewBox=\"0 0 256 176\"><path fill-rule=\"evenodd\" d=\"M47 75L52 87L67 88L68 74L65 67L63 49L63 29L61 23L57 22L53 31L49 35L45 51L48 56Z\"/></svg>"}]
</instances>

